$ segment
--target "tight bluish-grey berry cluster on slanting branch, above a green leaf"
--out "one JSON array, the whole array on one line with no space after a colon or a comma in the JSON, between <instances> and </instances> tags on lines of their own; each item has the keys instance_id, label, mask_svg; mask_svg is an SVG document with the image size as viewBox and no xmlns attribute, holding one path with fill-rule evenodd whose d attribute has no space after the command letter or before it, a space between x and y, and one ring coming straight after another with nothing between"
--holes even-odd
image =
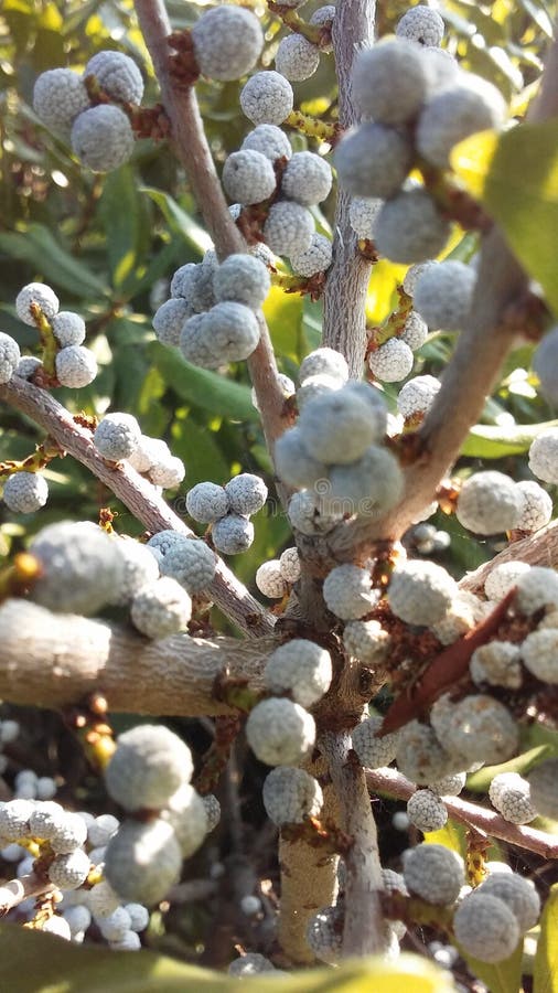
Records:
<instances>
[{"instance_id":1,"label":"tight bluish-grey berry cluster on slanting branch, above a green leaf","mask_svg":"<svg viewBox=\"0 0 558 993\"><path fill-rule=\"evenodd\" d=\"M257 311L270 285L266 265L254 255L229 255L219 265L206 252L202 263L174 273L171 298L153 317L155 334L202 369L242 362L258 345Z\"/></svg>"}]
</instances>

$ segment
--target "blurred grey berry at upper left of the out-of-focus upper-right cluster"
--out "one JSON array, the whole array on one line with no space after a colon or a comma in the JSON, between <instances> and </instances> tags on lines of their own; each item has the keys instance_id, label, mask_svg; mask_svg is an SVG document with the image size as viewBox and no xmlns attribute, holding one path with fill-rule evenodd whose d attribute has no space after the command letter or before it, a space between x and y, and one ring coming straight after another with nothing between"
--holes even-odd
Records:
<instances>
[{"instance_id":1,"label":"blurred grey berry at upper left of the out-of-focus upper-right cluster","mask_svg":"<svg viewBox=\"0 0 558 993\"><path fill-rule=\"evenodd\" d=\"M403 125L416 117L427 98L429 82L422 52L405 38L365 49L353 68L353 93L360 110L384 125Z\"/></svg>"}]
</instances>

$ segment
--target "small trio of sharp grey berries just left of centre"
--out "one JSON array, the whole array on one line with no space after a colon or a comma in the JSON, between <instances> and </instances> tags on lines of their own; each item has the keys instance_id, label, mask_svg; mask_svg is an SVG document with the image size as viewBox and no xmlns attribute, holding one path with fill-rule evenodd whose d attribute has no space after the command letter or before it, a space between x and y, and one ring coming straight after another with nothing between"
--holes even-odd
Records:
<instances>
[{"instance_id":1,"label":"small trio of sharp grey berries just left of centre","mask_svg":"<svg viewBox=\"0 0 558 993\"><path fill-rule=\"evenodd\" d=\"M186 510L194 521L208 524L211 540L223 555L246 552L254 541L256 514L267 500L267 487L259 476L242 472L225 487L201 482L186 494Z\"/></svg>"}]
</instances>

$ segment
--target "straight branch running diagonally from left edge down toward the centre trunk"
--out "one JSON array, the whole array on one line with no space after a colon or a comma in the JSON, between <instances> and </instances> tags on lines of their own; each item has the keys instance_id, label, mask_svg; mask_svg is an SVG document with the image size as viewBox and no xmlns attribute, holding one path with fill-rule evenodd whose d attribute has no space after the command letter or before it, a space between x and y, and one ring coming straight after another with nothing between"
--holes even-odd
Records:
<instances>
[{"instance_id":1,"label":"straight branch running diagonally from left edge down toward the centre trunk","mask_svg":"<svg viewBox=\"0 0 558 993\"><path fill-rule=\"evenodd\" d=\"M90 431L76 424L72 415L45 389L14 376L0 386L0 401L22 410L49 433L60 446L100 479L131 513L152 532L172 528L193 534L184 521L159 496L154 487L130 466L111 468L98 453ZM275 619L254 599L234 573L217 560L215 579L208 596L234 623L251 638L269 634Z\"/></svg>"}]
</instances>

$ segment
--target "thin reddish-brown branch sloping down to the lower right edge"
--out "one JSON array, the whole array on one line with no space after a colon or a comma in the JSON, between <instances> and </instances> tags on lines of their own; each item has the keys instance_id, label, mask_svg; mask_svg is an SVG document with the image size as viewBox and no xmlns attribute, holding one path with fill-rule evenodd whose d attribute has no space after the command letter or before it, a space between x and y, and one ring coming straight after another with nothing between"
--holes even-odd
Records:
<instances>
[{"instance_id":1,"label":"thin reddish-brown branch sloping down to the lower right edge","mask_svg":"<svg viewBox=\"0 0 558 993\"><path fill-rule=\"evenodd\" d=\"M386 793L396 800L408 800L417 790L415 783L396 769L366 769L366 782L371 792ZM444 797L443 802L450 818L461 821L462 824L476 828L491 837L498 837L528 852L536 852L544 858L558 858L558 841L551 834L537 831L535 828L511 824L493 810L461 800L459 797Z\"/></svg>"}]
</instances>

